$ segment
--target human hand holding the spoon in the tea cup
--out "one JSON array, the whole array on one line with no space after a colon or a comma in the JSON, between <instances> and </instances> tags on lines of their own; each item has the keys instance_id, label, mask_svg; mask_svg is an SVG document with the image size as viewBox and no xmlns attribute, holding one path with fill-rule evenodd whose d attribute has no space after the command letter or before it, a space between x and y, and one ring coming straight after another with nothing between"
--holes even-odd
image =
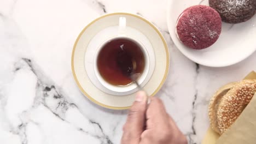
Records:
<instances>
[{"instance_id":1,"label":"human hand holding the spoon in the tea cup","mask_svg":"<svg viewBox=\"0 0 256 144\"><path fill-rule=\"evenodd\" d=\"M151 98L147 108L147 95L138 92L123 127L121 144L185 144L186 137L167 114L159 98Z\"/></svg>"}]
</instances>

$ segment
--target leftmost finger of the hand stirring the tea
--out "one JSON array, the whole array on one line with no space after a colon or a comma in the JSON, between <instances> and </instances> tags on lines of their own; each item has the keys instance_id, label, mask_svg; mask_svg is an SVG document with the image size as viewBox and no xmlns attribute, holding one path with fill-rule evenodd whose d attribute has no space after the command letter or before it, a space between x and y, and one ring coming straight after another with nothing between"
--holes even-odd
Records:
<instances>
[{"instance_id":1,"label":"leftmost finger of the hand stirring the tea","mask_svg":"<svg viewBox=\"0 0 256 144\"><path fill-rule=\"evenodd\" d=\"M127 121L123 127L122 144L137 144L141 139L144 131L145 113L147 107L147 95L143 91L136 94L135 102L129 110Z\"/></svg>"}]
</instances>

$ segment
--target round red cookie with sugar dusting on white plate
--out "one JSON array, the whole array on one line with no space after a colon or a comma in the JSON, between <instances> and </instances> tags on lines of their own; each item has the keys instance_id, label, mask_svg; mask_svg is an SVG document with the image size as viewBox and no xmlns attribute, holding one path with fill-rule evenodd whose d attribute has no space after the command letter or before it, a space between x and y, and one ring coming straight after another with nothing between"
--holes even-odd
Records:
<instances>
[{"instance_id":1,"label":"round red cookie with sugar dusting on white plate","mask_svg":"<svg viewBox=\"0 0 256 144\"><path fill-rule=\"evenodd\" d=\"M183 11L176 24L178 39L191 49L213 45L222 31L219 13L206 5L195 5Z\"/></svg>"}]
</instances>

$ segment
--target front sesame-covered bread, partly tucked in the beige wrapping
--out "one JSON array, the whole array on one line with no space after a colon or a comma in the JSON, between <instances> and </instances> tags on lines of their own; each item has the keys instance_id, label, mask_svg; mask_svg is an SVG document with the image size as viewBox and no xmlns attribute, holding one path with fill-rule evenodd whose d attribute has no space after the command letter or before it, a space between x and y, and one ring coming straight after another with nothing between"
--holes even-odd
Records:
<instances>
[{"instance_id":1,"label":"front sesame-covered bread, partly tucked in the beige wrapping","mask_svg":"<svg viewBox=\"0 0 256 144\"><path fill-rule=\"evenodd\" d=\"M223 95L217 109L220 134L223 134L236 121L255 92L256 80L242 80Z\"/></svg>"}]
</instances>

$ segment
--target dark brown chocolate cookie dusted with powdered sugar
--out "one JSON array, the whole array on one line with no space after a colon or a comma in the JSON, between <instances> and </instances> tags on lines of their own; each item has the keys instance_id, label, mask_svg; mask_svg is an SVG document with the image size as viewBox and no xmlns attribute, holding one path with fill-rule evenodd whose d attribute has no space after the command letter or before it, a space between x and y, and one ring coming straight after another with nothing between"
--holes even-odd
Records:
<instances>
[{"instance_id":1,"label":"dark brown chocolate cookie dusted with powdered sugar","mask_svg":"<svg viewBox=\"0 0 256 144\"><path fill-rule=\"evenodd\" d=\"M256 11L256 0L209 0L209 4L218 11L222 21L228 23L245 22Z\"/></svg>"}]
</instances>

